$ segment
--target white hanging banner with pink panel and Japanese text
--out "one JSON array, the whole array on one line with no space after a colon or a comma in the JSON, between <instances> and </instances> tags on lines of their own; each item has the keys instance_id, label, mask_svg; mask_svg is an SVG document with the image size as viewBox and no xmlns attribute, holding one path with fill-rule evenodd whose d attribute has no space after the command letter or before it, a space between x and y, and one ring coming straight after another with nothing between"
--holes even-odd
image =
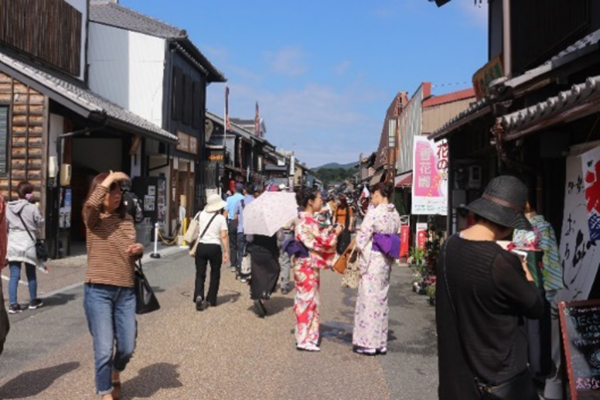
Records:
<instances>
[{"instance_id":1,"label":"white hanging banner with pink panel and Japanese text","mask_svg":"<svg viewBox=\"0 0 600 400\"><path fill-rule=\"evenodd\" d=\"M413 157L413 215L448 212L448 144L415 136Z\"/></svg>"}]
</instances>

